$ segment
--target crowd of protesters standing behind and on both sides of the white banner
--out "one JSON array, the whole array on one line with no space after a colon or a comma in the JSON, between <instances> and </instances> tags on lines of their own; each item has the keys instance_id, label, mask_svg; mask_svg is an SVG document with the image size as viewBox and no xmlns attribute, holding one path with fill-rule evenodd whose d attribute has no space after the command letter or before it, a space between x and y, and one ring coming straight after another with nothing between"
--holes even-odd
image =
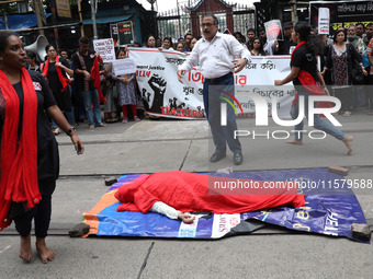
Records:
<instances>
[{"instance_id":1,"label":"crowd of protesters standing behind and on both sides of the white banner","mask_svg":"<svg viewBox=\"0 0 373 279\"><path fill-rule=\"evenodd\" d=\"M284 22L282 26L282 39L279 40L268 40L264 28L249 28L246 36L241 32L235 32L233 36L250 51L251 56L291 55L296 47L296 43L292 40L293 25L291 22ZM364 90L364 85L373 84L373 67L371 67L373 62L373 24L370 23L366 26L362 23L351 24L347 30L338 28L329 36L318 34L317 31L317 27L313 28L312 34L324 47L324 56L320 57L320 72L330 88L330 93L341 101L339 113L348 117L354 111L366 108L369 109L368 114L373 115L373 92ZM190 32L179 39L148 35L143 45L135 42L132 47L190 53L199 39L201 36L193 36ZM136 109L135 74L113 77L110 66L104 63L97 66L97 62L100 62L100 57L89 49L89 38L82 37L79 42L79 50L72 54L71 60L67 50L59 49L57 55L55 50L58 49L48 45L46 62L42 65L37 63L34 53L27 51L26 68L41 71L49 80L49 86L57 105L74 127L78 123L88 123L90 129L104 127L100 111L100 101L103 97L106 98L105 123L122 120L125 124L128 119L140 120ZM126 58L126 49L117 49L116 57ZM45 65L50 65L47 67L47 71ZM361 67L360 75L363 74L359 82L353 77L357 65ZM92 77L91 70L95 67L100 68L97 71L97 77ZM61 90L64 80L61 80L60 73L64 79L69 80L68 91ZM128 112L127 108L129 108ZM121 117L121 113L123 117ZM55 135L58 135L60 129L53 121L52 126Z\"/></svg>"}]
</instances>

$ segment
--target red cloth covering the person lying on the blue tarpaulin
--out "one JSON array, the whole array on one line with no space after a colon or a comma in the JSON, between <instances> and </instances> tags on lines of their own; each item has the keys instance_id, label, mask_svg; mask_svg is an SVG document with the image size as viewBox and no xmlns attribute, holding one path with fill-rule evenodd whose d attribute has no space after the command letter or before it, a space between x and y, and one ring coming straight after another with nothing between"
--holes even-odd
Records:
<instances>
[{"instance_id":1,"label":"red cloth covering the person lying on the blue tarpaulin","mask_svg":"<svg viewBox=\"0 0 373 279\"><path fill-rule=\"evenodd\" d=\"M117 189L115 198L122 205L116 210L146 213L154 202L162 201L183 212L240 213L283 205L302 207L305 204L304 195L296 195L296 188L292 191L294 195L285 194L285 190L282 190L283 195L208 195L210 179L222 178L181 171L144 174ZM260 183L263 185L264 182Z\"/></svg>"}]
</instances>

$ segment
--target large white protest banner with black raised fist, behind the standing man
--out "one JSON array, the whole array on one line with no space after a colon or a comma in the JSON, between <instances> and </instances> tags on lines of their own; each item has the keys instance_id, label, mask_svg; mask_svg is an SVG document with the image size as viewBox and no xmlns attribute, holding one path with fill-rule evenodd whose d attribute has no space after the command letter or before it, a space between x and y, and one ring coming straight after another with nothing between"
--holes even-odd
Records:
<instances>
[{"instance_id":1,"label":"large white protest banner with black raised fist, behind the standing man","mask_svg":"<svg viewBox=\"0 0 373 279\"><path fill-rule=\"evenodd\" d=\"M183 84L178 81L178 67L189 54L155 48L128 48L129 57L135 61L136 80L139 89L139 100L149 115L201 119L205 118L203 105L204 77L197 67L187 72ZM235 74L235 90L239 114L255 117L256 109L252 100L240 97L251 92L265 98L269 107L272 100L278 103L278 115L289 117L295 91L273 88L275 79L283 79L290 73L290 56L252 57L242 71ZM238 114L238 115L239 115ZM269 116L271 116L269 109Z\"/></svg>"}]
</instances>

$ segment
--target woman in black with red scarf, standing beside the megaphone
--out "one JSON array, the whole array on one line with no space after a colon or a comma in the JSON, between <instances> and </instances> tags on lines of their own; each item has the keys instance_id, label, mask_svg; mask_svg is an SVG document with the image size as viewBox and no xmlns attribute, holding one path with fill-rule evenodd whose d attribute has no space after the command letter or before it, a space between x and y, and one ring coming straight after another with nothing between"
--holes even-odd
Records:
<instances>
[{"instance_id":1,"label":"woman in black with red scarf, standing beside the megaphone","mask_svg":"<svg viewBox=\"0 0 373 279\"><path fill-rule=\"evenodd\" d=\"M49 84L49 89L55 96L57 106L65 113L70 125L75 126L74 111L71 107L71 95L69 91L70 80L67 78L74 77L74 70L70 69L69 62L64 58L57 56L56 48L53 45L45 47L48 59L43 66L42 73ZM54 133L60 132L59 127L53 121Z\"/></svg>"}]
</instances>

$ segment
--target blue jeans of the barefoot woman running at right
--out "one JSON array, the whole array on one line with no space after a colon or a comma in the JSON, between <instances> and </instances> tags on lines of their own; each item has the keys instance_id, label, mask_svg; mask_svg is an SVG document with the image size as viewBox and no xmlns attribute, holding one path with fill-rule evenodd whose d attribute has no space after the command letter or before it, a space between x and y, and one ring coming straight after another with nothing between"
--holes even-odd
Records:
<instances>
[{"instance_id":1,"label":"blue jeans of the barefoot woman running at right","mask_svg":"<svg viewBox=\"0 0 373 279\"><path fill-rule=\"evenodd\" d=\"M304 96L305 115L308 119L308 92L307 91L298 92L298 96ZM299 101L297 100L295 105L290 111L290 115L292 116L293 119L296 119L298 114L299 114ZM303 130L303 123L304 123L304 120L302 120L299 124L295 125L294 130L296 130L296 131ZM334 126L332 124L324 121L318 114L315 114L314 127L315 127L315 129L325 131L326 133L329 133L330 136L332 136L332 137L335 137L339 140L342 140L344 138L344 133L341 130L337 129L336 126ZM303 132L295 132L295 139L302 140L303 139Z\"/></svg>"}]
</instances>

